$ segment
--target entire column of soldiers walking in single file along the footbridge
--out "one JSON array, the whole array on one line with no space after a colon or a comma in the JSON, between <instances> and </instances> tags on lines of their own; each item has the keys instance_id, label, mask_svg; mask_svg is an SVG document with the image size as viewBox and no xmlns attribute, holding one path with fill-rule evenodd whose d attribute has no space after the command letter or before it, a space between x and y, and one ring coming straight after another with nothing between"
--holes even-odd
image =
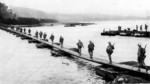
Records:
<instances>
[{"instance_id":1,"label":"entire column of soldiers walking in single file along the footbridge","mask_svg":"<svg viewBox=\"0 0 150 84\"><path fill-rule=\"evenodd\" d=\"M18 31L18 30L19 30L19 28L16 28L16 31ZM22 28L20 29L20 32L23 32ZM24 33L26 33L26 29L24 29ZM30 29L28 29L28 35L31 35L31 30ZM40 39L42 39L42 37L43 37L43 40L46 41L46 37L47 37L46 33L43 34L42 31L40 31L40 32L36 31L35 32L35 37L38 38L38 36L40 37ZM51 36L50 36L50 40L52 42L52 45L54 43L54 38L55 38L55 36L52 33ZM60 36L59 43L60 43L61 48L63 48L63 42L64 42L64 38L62 36ZM113 50L115 49L114 45L115 44L112 45L111 42L108 42L108 46L106 48L106 53L108 54L108 58L109 58L110 63L112 63L111 55L113 53ZM77 42L77 47L78 47L79 55L81 56L82 48L84 48L84 45L81 42L81 40L79 40ZM93 59L94 47L95 47L94 43L92 41L89 41L88 53L89 53L89 56L90 56L91 59ZM148 67L145 65L145 62L144 62L145 58L146 58L145 53L146 53L146 45L143 48L141 46L141 44L138 44L138 53L137 53L137 61L138 61L138 64L139 64L139 69L138 70L140 70L140 68L143 67L143 68L146 69L146 72L147 72Z\"/></svg>"}]
</instances>

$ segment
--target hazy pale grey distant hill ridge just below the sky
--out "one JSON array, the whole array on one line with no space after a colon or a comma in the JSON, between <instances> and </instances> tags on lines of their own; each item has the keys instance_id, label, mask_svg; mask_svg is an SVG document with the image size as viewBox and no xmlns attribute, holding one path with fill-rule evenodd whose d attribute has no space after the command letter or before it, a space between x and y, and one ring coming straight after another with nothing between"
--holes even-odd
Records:
<instances>
[{"instance_id":1,"label":"hazy pale grey distant hill ridge just below the sky","mask_svg":"<svg viewBox=\"0 0 150 84\"><path fill-rule=\"evenodd\" d=\"M20 17L33 17L33 18L48 18L55 19L59 22L79 22L79 21L108 21L108 20L141 20L147 17L137 16L114 16L114 15L101 15L101 14L58 14L47 13L40 10L23 8L23 7L10 7L13 13Z\"/></svg>"}]
</instances>

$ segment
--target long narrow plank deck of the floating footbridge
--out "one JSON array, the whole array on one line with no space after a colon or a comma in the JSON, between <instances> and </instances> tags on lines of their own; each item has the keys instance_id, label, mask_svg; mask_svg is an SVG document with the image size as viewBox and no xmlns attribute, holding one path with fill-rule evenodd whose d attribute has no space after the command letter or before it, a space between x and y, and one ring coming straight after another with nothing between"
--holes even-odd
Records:
<instances>
[{"instance_id":1,"label":"long narrow plank deck of the floating footbridge","mask_svg":"<svg viewBox=\"0 0 150 84\"><path fill-rule=\"evenodd\" d=\"M134 71L134 72L138 72L138 73L146 74L146 75L150 76L150 71L146 72L145 69L141 69L141 71L137 71L138 67L133 67L133 66L129 66L129 65L119 64L119 63L116 63L116 62L112 62L110 64L108 60L103 60L103 59L96 58L96 57L93 57L93 59L90 59L90 56L88 56L88 55L83 55L82 54L80 56L79 53L77 53L77 52L69 50L69 49L67 49L65 47L61 48L60 46L55 45L55 44L52 45L52 43L44 41L44 40L41 40L41 39L38 39L38 38L35 38L34 36L29 36L27 34L20 33L20 32L17 32L15 30L12 30L12 29L9 29L9 28L0 27L0 29L9 31L11 33L16 33L16 34L19 34L19 35L27 37L27 38L31 38L31 39L37 40L37 41L39 41L41 43L44 43L44 44L47 44L49 46L55 47L55 48L57 48L59 50L62 50L64 52L67 52L67 53L71 54L72 56L75 56L75 57L78 57L78 58L81 58L81 59L84 59L84 60L87 60L87 61L91 61L91 62L99 63L99 64L105 64L105 65L109 65L109 66L112 66L112 67L118 67L118 68L122 68L122 69L125 69L125 70L130 70L130 71Z\"/></svg>"}]
</instances>

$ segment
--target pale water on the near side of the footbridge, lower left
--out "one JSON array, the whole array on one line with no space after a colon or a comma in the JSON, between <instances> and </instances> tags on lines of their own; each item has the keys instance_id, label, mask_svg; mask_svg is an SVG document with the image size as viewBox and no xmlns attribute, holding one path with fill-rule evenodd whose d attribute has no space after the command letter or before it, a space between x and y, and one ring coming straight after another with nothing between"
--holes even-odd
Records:
<instances>
[{"instance_id":1,"label":"pale water on the near side of the footbridge, lower left","mask_svg":"<svg viewBox=\"0 0 150 84\"><path fill-rule=\"evenodd\" d=\"M0 84L103 84L94 65L53 57L48 49L0 30ZM82 62L83 61L83 62ZM68 65L66 64L68 63Z\"/></svg>"}]
</instances>

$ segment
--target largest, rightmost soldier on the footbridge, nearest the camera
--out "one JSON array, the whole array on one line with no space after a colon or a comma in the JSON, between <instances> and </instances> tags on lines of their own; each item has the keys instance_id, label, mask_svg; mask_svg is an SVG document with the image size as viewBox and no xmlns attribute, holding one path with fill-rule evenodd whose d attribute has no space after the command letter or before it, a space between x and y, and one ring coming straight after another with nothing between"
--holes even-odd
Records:
<instances>
[{"instance_id":1,"label":"largest, rightmost soldier on the footbridge, nearest the camera","mask_svg":"<svg viewBox=\"0 0 150 84\"><path fill-rule=\"evenodd\" d=\"M141 67L143 67L143 68L145 68L146 69L146 72L148 71L148 67L145 65L145 62L144 62L144 60L145 60L145 58L146 58L146 55L145 55L145 53L146 53L146 46L145 46L145 48L142 48L142 46L141 46L141 44L138 44L138 53L137 53L137 55L138 55L138 58L137 58L137 60L138 60L138 63L139 63L139 71L140 71L140 68Z\"/></svg>"}]
</instances>

